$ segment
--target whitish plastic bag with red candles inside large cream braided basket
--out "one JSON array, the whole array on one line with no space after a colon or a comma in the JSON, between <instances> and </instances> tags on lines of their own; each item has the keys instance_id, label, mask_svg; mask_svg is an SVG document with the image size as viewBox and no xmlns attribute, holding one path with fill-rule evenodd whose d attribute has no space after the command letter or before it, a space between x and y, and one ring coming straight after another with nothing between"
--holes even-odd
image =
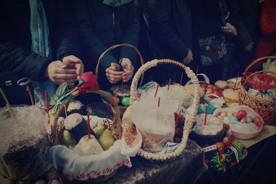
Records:
<instances>
[{"instance_id":1,"label":"whitish plastic bag with red candles inside large cream braided basket","mask_svg":"<svg viewBox=\"0 0 276 184\"><path fill-rule=\"evenodd\" d=\"M142 147L148 152L159 152L175 135L175 116L178 101L157 98L137 101L130 108L130 116L143 137Z\"/></svg>"}]
</instances>

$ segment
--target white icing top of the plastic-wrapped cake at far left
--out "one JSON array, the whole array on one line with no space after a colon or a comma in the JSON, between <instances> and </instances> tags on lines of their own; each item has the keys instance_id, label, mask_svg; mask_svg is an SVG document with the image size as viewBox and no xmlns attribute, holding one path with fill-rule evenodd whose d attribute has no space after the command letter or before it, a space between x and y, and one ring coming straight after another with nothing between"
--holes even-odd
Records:
<instances>
[{"instance_id":1,"label":"white icing top of the plastic-wrapped cake at far left","mask_svg":"<svg viewBox=\"0 0 276 184\"><path fill-rule=\"evenodd\" d=\"M8 109L0 109L0 156L35 145L46 137L46 112L37 106L12 108L17 123L10 117Z\"/></svg>"}]
</instances>

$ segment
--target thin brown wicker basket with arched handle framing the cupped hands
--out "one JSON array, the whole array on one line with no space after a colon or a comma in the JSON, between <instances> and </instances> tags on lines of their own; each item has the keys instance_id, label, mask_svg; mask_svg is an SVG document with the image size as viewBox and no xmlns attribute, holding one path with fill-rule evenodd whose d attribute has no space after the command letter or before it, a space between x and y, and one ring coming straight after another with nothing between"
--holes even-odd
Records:
<instances>
[{"instance_id":1,"label":"thin brown wicker basket with arched handle framing the cupped hands","mask_svg":"<svg viewBox=\"0 0 276 184\"><path fill-rule=\"evenodd\" d=\"M129 47L129 48L133 48L133 50L135 50L135 52L138 54L139 56L139 60L141 62L141 65L144 65L144 59L143 57L141 56L139 50L133 46L133 45L130 45L128 43L121 43L121 44L117 44L117 45L112 45L110 48L108 48L105 52L103 52L101 54L101 56L99 57L98 59L98 63L97 63L97 67L96 67L96 71L95 71L95 76L96 78L98 77L98 74L99 74L99 63L101 62L101 60L103 59L103 57L106 55L106 53L110 52L110 50L113 50L115 48L119 48L119 47ZM141 76L141 81L140 81L140 87L141 87L141 84L143 83L143 80L144 80L144 74L142 74ZM121 116L123 116L124 112L126 111L126 108L125 106L119 106L119 112L121 114Z\"/></svg>"}]
</instances>

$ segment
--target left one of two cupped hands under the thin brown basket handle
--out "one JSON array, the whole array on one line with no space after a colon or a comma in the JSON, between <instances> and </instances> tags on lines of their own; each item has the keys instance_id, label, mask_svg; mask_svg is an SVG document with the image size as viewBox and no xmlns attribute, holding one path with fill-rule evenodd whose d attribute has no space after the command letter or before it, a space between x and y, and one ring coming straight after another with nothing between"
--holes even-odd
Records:
<instances>
[{"instance_id":1,"label":"left one of two cupped hands under the thin brown basket handle","mask_svg":"<svg viewBox=\"0 0 276 184\"><path fill-rule=\"evenodd\" d=\"M120 72L120 65L111 63L109 68L106 68L106 77L110 83L121 81L124 72Z\"/></svg>"}]
</instances>

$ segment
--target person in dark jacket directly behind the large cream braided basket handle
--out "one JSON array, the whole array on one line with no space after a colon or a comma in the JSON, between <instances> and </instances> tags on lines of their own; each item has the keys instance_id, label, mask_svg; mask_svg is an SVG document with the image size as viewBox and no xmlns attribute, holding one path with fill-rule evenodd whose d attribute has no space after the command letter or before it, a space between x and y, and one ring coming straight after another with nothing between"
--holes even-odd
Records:
<instances>
[{"instance_id":1,"label":"person in dark jacket directly behind the large cream braided basket handle","mask_svg":"<svg viewBox=\"0 0 276 184\"><path fill-rule=\"evenodd\" d=\"M148 0L144 7L150 59L174 59L192 65L192 22L187 0ZM174 65L157 66L152 80L179 82L183 70Z\"/></svg>"}]
</instances>

